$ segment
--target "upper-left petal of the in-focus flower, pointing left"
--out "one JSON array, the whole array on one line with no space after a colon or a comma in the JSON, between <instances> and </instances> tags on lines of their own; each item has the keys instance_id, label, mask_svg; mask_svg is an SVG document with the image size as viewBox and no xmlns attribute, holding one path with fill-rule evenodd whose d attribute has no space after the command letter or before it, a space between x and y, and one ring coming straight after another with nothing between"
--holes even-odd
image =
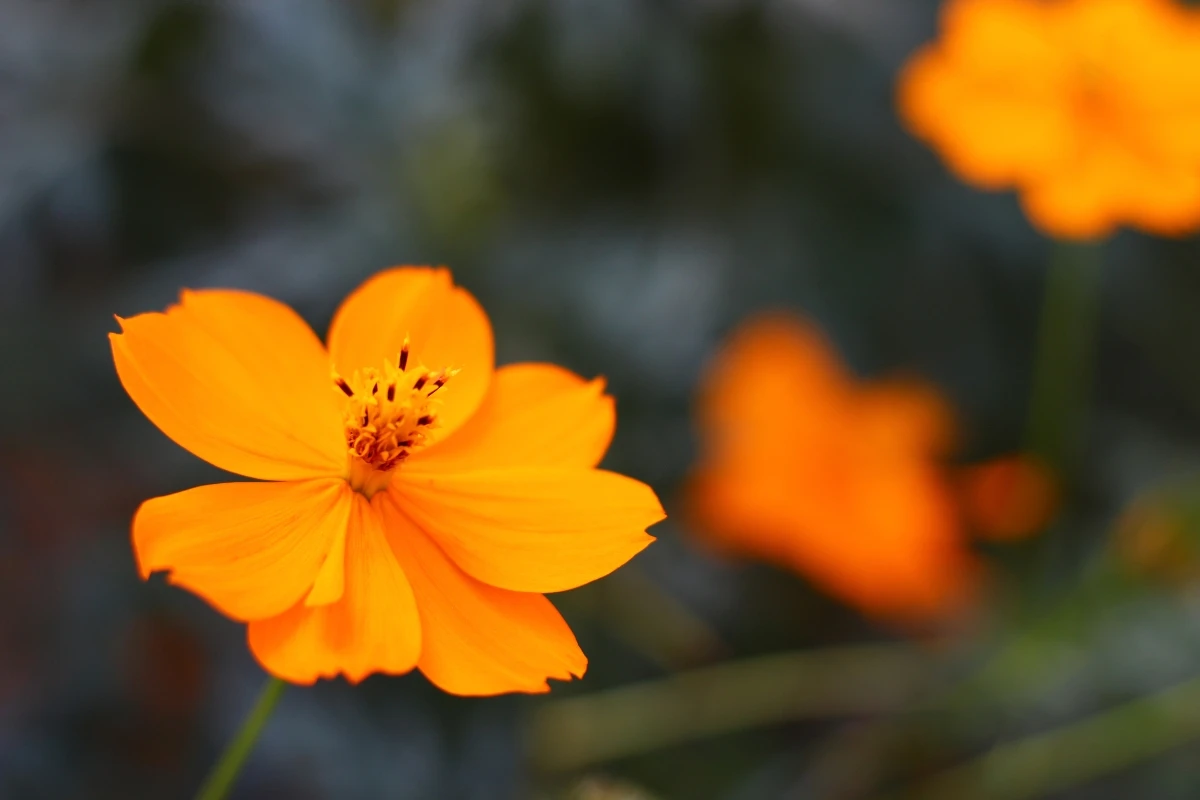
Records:
<instances>
[{"instance_id":1,"label":"upper-left petal of the in-focus flower, pointing left","mask_svg":"<svg viewBox=\"0 0 1200 800\"><path fill-rule=\"evenodd\" d=\"M344 469L329 357L283 303L245 291L185 291L166 313L120 323L109 341L121 384L182 447L265 480Z\"/></svg>"}]
</instances>

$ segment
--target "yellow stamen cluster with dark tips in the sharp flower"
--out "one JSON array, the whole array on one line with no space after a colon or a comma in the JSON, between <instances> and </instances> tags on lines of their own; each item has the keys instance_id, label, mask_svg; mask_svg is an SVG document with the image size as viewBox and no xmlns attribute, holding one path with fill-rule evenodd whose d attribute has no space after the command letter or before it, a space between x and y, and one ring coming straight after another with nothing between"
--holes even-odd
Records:
<instances>
[{"instance_id":1,"label":"yellow stamen cluster with dark tips in the sharp flower","mask_svg":"<svg viewBox=\"0 0 1200 800\"><path fill-rule=\"evenodd\" d=\"M394 362L355 369L349 378L334 373L334 385L346 395L350 486L371 497L388 485L391 470L437 426L442 401L434 396L457 373L413 363L407 339Z\"/></svg>"}]
</instances>

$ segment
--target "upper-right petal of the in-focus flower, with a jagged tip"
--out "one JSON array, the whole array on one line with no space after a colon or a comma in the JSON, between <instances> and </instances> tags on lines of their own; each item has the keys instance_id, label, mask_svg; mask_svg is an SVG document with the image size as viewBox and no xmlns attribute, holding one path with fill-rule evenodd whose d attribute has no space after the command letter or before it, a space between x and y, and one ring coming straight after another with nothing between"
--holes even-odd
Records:
<instances>
[{"instance_id":1,"label":"upper-right petal of the in-focus flower, with a jagged tip","mask_svg":"<svg viewBox=\"0 0 1200 800\"><path fill-rule=\"evenodd\" d=\"M583 380L548 363L496 372L484 404L452 437L419 451L408 468L595 467L612 441L612 398L604 380Z\"/></svg>"}]
</instances>

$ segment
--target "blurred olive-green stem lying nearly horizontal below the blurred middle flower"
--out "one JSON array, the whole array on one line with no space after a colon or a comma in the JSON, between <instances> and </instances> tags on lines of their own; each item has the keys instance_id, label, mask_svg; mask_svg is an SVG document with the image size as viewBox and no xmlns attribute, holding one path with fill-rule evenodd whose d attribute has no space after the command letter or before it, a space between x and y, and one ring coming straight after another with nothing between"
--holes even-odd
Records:
<instances>
[{"instance_id":1,"label":"blurred olive-green stem lying nearly horizontal below the blurred middle flower","mask_svg":"<svg viewBox=\"0 0 1200 800\"><path fill-rule=\"evenodd\" d=\"M906 645L805 650L552 700L534 715L530 757L572 770L670 745L804 718L892 714L928 686Z\"/></svg>"}]
</instances>

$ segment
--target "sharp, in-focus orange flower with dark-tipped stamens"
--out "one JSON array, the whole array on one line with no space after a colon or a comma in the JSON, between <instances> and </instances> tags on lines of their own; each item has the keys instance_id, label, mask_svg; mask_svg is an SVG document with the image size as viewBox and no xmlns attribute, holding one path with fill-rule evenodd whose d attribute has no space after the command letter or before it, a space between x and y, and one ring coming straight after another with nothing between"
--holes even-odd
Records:
<instances>
[{"instance_id":1,"label":"sharp, in-focus orange flower with dark-tipped stamens","mask_svg":"<svg viewBox=\"0 0 1200 800\"><path fill-rule=\"evenodd\" d=\"M143 577L248 622L251 650L298 684L425 675L456 694L547 691L587 658L541 593L617 569L662 518L644 485L595 469L604 381L493 369L492 330L445 270L379 273L329 347L290 308L184 291L120 320L116 372L138 408L205 461L269 482L148 500Z\"/></svg>"}]
</instances>

